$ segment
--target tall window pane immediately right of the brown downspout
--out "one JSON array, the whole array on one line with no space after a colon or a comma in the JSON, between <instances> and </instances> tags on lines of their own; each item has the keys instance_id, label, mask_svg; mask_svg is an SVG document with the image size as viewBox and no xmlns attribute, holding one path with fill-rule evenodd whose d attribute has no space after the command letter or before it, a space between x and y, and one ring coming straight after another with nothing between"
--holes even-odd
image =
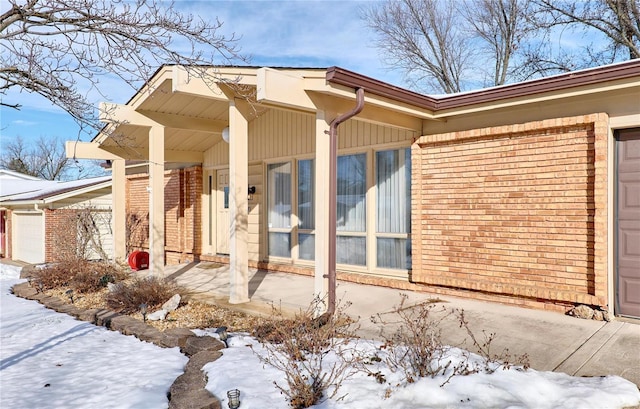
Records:
<instances>
[{"instance_id":1,"label":"tall window pane immediately right of the brown downspout","mask_svg":"<svg viewBox=\"0 0 640 409\"><path fill-rule=\"evenodd\" d=\"M338 157L336 261L367 265L367 155Z\"/></svg>"}]
</instances>

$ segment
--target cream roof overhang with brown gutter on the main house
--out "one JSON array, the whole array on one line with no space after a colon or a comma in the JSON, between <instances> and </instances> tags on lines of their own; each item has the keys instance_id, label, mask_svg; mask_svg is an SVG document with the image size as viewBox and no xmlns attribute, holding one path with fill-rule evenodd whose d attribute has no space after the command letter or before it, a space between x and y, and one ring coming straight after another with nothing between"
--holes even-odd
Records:
<instances>
[{"instance_id":1,"label":"cream roof overhang with brown gutter on the main house","mask_svg":"<svg viewBox=\"0 0 640 409\"><path fill-rule=\"evenodd\" d=\"M183 67L166 65L127 102L101 104L107 125L90 143L67 143L67 156L148 159L149 129L162 127L165 161L201 163L203 152L222 140L229 104L242 99L253 117L264 108L338 116L353 107L354 90L365 90L357 121L421 132L430 121L580 95L640 87L640 60L453 95L428 96L340 67Z\"/></svg>"}]
</instances>

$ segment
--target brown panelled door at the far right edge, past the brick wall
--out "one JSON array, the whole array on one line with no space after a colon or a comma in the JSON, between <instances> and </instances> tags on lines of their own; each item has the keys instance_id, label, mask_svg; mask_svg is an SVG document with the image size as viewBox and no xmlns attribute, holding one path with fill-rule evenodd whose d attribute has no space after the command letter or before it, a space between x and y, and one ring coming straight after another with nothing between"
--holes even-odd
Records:
<instances>
[{"instance_id":1,"label":"brown panelled door at the far right edge, past the brick wall","mask_svg":"<svg viewBox=\"0 0 640 409\"><path fill-rule=\"evenodd\" d=\"M640 128L618 136L618 313L640 318Z\"/></svg>"}]
</instances>

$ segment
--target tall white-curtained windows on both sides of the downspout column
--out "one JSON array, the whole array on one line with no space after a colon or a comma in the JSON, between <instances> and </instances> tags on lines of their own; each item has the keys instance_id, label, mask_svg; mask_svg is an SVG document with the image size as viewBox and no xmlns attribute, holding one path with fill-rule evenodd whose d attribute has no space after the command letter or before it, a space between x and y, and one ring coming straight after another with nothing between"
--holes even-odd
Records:
<instances>
[{"instance_id":1,"label":"tall white-curtained windows on both sides of the downspout column","mask_svg":"<svg viewBox=\"0 0 640 409\"><path fill-rule=\"evenodd\" d=\"M337 158L336 262L369 271L408 270L411 151L371 153L373 158L368 153ZM367 168L371 163L374 169ZM270 257L315 260L315 172L313 159L267 165Z\"/></svg>"}]
</instances>

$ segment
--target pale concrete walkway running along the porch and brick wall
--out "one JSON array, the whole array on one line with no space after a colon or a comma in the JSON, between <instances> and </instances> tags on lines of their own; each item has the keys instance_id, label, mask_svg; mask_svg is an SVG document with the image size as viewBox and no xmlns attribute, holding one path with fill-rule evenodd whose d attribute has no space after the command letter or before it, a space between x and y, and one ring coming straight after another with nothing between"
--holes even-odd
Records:
<instances>
[{"instance_id":1,"label":"pale concrete walkway running along the porch and brick wall","mask_svg":"<svg viewBox=\"0 0 640 409\"><path fill-rule=\"evenodd\" d=\"M189 289L203 301L228 305L228 266L215 263L191 263L168 266L166 275ZM399 290L338 282L337 298L351 303L347 313L359 318L362 337L379 338L379 326L370 317L390 312L399 305ZM467 321L477 337L482 331L496 333L492 351L508 348L512 355L528 354L531 367L559 371L577 376L619 375L640 385L640 320L613 322L582 320L557 312L529 310L502 304L435 296L428 293L403 292L407 304L433 299L447 308L464 309ZM250 271L251 302L231 306L252 313L270 314L271 305L285 312L306 309L313 299L313 278L295 274ZM457 320L442 325L444 342L473 350Z\"/></svg>"}]
</instances>

